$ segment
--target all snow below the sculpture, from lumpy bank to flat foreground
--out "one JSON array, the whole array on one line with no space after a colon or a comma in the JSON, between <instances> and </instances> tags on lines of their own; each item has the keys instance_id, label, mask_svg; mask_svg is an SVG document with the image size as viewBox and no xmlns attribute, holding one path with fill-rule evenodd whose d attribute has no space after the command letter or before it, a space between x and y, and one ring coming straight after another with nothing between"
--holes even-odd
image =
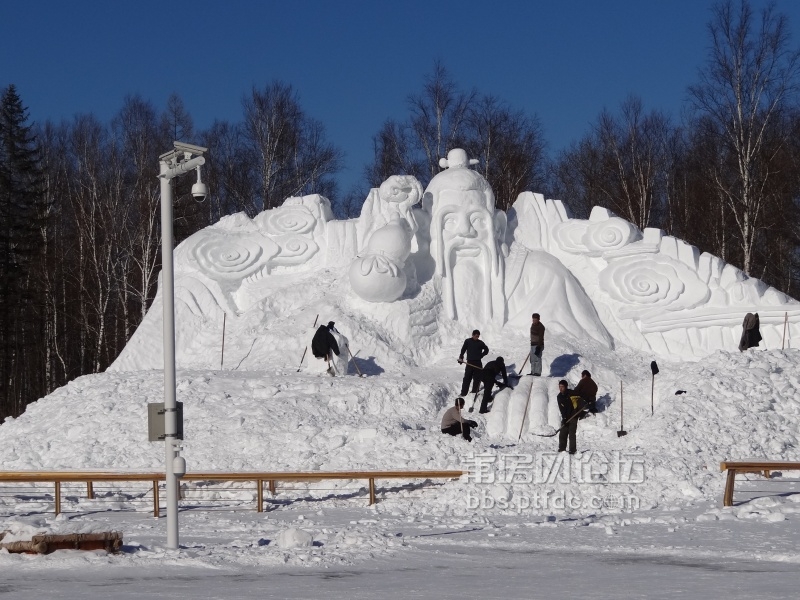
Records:
<instances>
[{"instance_id":1,"label":"all snow below the sculpture, from lumpy bank to flat foreground","mask_svg":"<svg viewBox=\"0 0 800 600\"><path fill-rule=\"evenodd\" d=\"M524 338L504 339L498 352L524 353ZM556 438L528 432L517 443L519 420L487 433L486 417L497 418L509 391L496 397L498 413L472 414L481 423L472 444L439 432L460 386L457 346L430 366L366 378L354 370L334 378L297 373L290 364L180 371L190 471L464 468L483 475L379 482L374 507L364 482L285 485L267 495L261 514L250 485L189 489L177 552L165 548L164 520L152 518L146 485L98 485L93 501L80 485L66 488L58 518L50 488L16 486L0 496L0 530L19 539L121 530L125 547L118 556L0 552L8 574L0 589L10 597L71 597L90 584L113 585L120 598L149 597L164 585L176 597L324 591L360 598L386 588L390 597L502 590L526 598L531 589L538 597L564 593L569 582L569 595L587 598L792 597L797 474L752 476L737 487L737 505L723 509L719 461L798 460L800 351L660 362L653 416L650 357L590 352L567 339L545 352L545 385L574 382L583 368L600 383L605 410L581 422L584 452L571 464L554 462L564 456L554 453ZM624 437L616 433L620 381ZM160 400L162 385L159 371L72 382L2 426L3 470L161 469L163 445L146 441L146 404ZM687 393L675 395L679 389ZM580 575L571 578L573 570Z\"/></svg>"}]
</instances>

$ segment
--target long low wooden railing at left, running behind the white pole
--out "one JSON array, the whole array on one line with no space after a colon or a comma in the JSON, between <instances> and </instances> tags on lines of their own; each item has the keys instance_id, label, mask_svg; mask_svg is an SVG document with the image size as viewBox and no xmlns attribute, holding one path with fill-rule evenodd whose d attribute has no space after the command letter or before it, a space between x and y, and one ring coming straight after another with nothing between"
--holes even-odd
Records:
<instances>
[{"instance_id":1,"label":"long low wooden railing at left, running behind the white pole","mask_svg":"<svg viewBox=\"0 0 800 600\"><path fill-rule=\"evenodd\" d=\"M187 473L182 481L253 481L256 484L256 510L264 510L264 482L275 495L277 481L323 481L323 480L367 480L369 482L369 504L375 504L376 479L458 479L466 471L315 471L315 472L196 472ZM137 473L123 471L0 471L0 482L8 483L52 483L54 487L55 513L61 513L61 484L85 483L86 496L94 499L95 482L149 481L153 484L153 515L160 516L158 483L164 481L164 473Z\"/></svg>"}]
</instances>

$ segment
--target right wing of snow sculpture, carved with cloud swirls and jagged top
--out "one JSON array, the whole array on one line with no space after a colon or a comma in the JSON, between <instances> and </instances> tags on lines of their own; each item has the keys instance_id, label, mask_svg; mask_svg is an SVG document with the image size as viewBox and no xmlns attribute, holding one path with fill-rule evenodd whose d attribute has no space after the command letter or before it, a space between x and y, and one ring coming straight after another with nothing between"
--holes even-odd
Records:
<instances>
[{"instance_id":1,"label":"right wing of snow sculpture, carved with cloud swirls and jagged top","mask_svg":"<svg viewBox=\"0 0 800 600\"><path fill-rule=\"evenodd\" d=\"M747 277L719 258L660 229L643 232L595 207L588 221L569 219L561 203L520 195L512 211L531 204L549 232L549 252L579 280L613 337L667 356L704 356L736 345L737 325L758 312L765 345L780 347L784 315L800 304ZM790 329L791 335L791 329Z\"/></svg>"}]
</instances>

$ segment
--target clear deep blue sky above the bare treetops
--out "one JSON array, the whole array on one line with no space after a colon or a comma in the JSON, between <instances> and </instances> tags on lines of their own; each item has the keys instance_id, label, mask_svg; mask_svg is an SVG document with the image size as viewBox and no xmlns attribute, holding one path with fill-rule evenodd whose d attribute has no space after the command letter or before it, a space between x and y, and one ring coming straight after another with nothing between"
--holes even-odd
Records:
<instances>
[{"instance_id":1,"label":"clear deep blue sky above the bare treetops","mask_svg":"<svg viewBox=\"0 0 800 600\"><path fill-rule=\"evenodd\" d=\"M763 0L753 0L756 9ZM629 94L678 116L707 56L710 0L25 0L0 7L0 87L34 121L93 113L127 94L162 109L173 92L195 128L241 120L242 97L274 79L346 153L360 181L372 136L440 59L465 89L538 115L551 152ZM800 1L778 0L800 43ZM192 141L192 140L187 140ZM166 149L165 149L166 150ZM155 165L154 165L155 169Z\"/></svg>"}]
</instances>

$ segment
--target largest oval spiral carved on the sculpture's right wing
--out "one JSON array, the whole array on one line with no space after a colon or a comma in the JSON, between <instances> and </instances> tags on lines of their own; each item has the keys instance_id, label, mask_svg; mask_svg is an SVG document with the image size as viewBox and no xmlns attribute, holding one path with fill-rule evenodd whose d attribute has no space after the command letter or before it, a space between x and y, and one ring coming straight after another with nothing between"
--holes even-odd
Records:
<instances>
[{"instance_id":1,"label":"largest oval spiral carved on the sculpture's right wing","mask_svg":"<svg viewBox=\"0 0 800 600\"><path fill-rule=\"evenodd\" d=\"M694 271L658 255L614 260L600 273L599 282L609 296L627 305L620 309L621 316L651 308L690 309L705 302L710 294Z\"/></svg>"}]
</instances>

